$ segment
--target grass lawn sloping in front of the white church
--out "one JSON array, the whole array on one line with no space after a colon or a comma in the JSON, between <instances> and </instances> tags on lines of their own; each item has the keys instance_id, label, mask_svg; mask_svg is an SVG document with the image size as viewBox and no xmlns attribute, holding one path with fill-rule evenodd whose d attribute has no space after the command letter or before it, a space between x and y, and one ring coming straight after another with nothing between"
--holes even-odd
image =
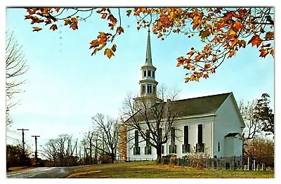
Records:
<instances>
[{"instance_id":1,"label":"grass lawn sloping in front of the white church","mask_svg":"<svg viewBox=\"0 0 281 184\"><path fill-rule=\"evenodd\" d=\"M75 169L67 178L274 178L273 171L233 171L168 166L156 162L102 164Z\"/></svg>"}]
</instances>

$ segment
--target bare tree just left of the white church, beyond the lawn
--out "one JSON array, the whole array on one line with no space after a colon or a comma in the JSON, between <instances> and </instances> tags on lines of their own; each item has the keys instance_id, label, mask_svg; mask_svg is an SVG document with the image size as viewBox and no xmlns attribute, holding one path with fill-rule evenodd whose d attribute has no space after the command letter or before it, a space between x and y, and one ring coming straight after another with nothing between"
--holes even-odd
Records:
<instances>
[{"instance_id":1,"label":"bare tree just left of the white church, beyond the lawn","mask_svg":"<svg viewBox=\"0 0 281 184\"><path fill-rule=\"evenodd\" d=\"M103 149L100 147L96 147L98 150L105 152L107 155L110 155L112 162L115 161L116 150L119 140L119 127L118 121L116 119L112 119L111 117L107 117L103 114L96 114L92 117L93 125L100 129L100 135L103 136L102 140L105 143L105 147ZM105 148L105 149L104 149Z\"/></svg>"}]
</instances>

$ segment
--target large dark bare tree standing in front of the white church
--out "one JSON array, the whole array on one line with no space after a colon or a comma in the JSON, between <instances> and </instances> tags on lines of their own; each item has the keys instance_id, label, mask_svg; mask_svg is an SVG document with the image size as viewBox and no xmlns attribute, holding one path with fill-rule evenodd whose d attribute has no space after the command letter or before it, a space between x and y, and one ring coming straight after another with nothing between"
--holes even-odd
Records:
<instances>
[{"instance_id":1,"label":"large dark bare tree standing in front of the white church","mask_svg":"<svg viewBox=\"0 0 281 184\"><path fill-rule=\"evenodd\" d=\"M128 126L128 131L138 131L136 135L131 135L128 141L138 137L139 133L142 140L137 138L137 144L146 141L145 152L151 152L151 146L155 147L159 163L162 162L162 145L171 138L171 130L175 136L173 123L178 112L175 110L173 100L178 98L178 93L180 90L168 91L168 88L163 85L158 88L158 94L162 99L155 95L141 98L132 98L129 95L123 103L124 124ZM135 145L134 152L139 152L138 145Z\"/></svg>"}]
</instances>

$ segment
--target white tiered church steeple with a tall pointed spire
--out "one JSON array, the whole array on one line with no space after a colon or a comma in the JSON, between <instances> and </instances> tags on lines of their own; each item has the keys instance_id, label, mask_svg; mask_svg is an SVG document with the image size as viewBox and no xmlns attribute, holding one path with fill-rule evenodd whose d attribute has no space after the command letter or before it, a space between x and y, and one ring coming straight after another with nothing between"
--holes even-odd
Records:
<instances>
[{"instance_id":1,"label":"white tiered church steeple with a tall pointed spire","mask_svg":"<svg viewBox=\"0 0 281 184\"><path fill-rule=\"evenodd\" d=\"M150 30L148 29L145 64L141 67L142 79L138 82L141 86L141 96L157 96L158 82L155 80L155 71L156 67L152 65Z\"/></svg>"}]
</instances>

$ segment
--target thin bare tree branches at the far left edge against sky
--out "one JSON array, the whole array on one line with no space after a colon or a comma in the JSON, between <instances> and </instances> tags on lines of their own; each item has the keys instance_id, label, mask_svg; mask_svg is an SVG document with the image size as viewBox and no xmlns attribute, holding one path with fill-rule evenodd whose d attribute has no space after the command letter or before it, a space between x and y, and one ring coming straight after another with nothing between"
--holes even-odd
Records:
<instances>
[{"instance_id":1,"label":"thin bare tree branches at the far left edge against sky","mask_svg":"<svg viewBox=\"0 0 281 184\"><path fill-rule=\"evenodd\" d=\"M13 37L13 32L6 31L6 125L13 122L9 112L11 107L18 103L18 100L13 100L13 97L22 92L20 86L25 82L22 74L25 74L28 69L22 46Z\"/></svg>"}]
</instances>

